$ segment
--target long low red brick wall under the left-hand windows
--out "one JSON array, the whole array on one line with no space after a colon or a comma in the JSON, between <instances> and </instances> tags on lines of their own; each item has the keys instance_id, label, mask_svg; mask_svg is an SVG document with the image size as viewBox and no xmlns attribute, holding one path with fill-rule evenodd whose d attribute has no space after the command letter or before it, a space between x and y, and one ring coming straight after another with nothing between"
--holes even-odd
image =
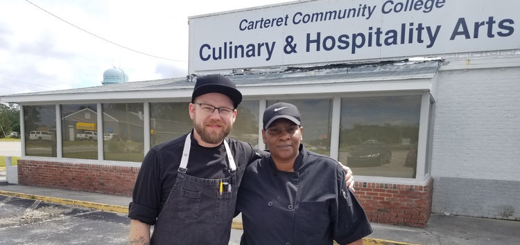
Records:
<instances>
[{"instance_id":1,"label":"long low red brick wall under the left-hand windows","mask_svg":"<svg viewBox=\"0 0 520 245\"><path fill-rule=\"evenodd\" d=\"M139 167L18 160L18 183L131 196Z\"/></svg>"}]
</instances>

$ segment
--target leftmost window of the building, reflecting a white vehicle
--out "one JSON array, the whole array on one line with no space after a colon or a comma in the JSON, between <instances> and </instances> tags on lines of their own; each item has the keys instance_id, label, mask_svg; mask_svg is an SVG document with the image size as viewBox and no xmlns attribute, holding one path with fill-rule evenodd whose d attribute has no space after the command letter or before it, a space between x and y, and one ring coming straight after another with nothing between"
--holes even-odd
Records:
<instances>
[{"instance_id":1,"label":"leftmost window of the building, reflecting a white vehicle","mask_svg":"<svg viewBox=\"0 0 520 245\"><path fill-rule=\"evenodd\" d=\"M55 105L24 106L26 156L56 156Z\"/></svg>"}]
</instances>

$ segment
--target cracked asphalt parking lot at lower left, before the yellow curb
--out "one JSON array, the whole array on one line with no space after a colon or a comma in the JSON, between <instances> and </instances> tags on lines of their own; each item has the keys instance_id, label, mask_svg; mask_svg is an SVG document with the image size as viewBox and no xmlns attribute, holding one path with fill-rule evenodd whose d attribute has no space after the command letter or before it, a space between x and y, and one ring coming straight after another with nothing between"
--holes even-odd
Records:
<instances>
[{"instance_id":1,"label":"cracked asphalt parking lot at lower left, before the yellow curb","mask_svg":"<svg viewBox=\"0 0 520 245\"><path fill-rule=\"evenodd\" d=\"M125 214L0 195L0 244L127 244Z\"/></svg>"}]
</instances>

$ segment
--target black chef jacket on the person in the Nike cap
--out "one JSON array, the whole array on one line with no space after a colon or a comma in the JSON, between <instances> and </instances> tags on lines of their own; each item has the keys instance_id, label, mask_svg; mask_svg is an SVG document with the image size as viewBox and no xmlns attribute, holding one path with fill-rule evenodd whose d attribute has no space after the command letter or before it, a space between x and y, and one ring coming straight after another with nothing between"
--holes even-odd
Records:
<instances>
[{"instance_id":1,"label":"black chef jacket on the person in the Nike cap","mask_svg":"<svg viewBox=\"0 0 520 245\"><path fill-rule=\"evenodd\" d=\"M245 170L241 244L348 244L372 233L336 161L300 145L294 171L278 171L270 156Z\"/></svg>"}]
</instances>

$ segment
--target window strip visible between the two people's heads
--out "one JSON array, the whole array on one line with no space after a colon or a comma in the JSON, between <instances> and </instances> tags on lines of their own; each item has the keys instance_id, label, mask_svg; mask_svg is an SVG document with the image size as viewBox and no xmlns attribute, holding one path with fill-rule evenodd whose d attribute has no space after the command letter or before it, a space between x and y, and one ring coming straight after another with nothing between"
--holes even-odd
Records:
<instances>
[{"instance_id":1,"label":"window strip visible between the two people's heads","mask_svg":"<svg viewBox=\"0 0 520 245\"><path fill-rule=\"evenodd\" d=\"M236 120L229 138L258 147L259 101L242 101L236 108Z\"/></svg>"}]
</instances>

